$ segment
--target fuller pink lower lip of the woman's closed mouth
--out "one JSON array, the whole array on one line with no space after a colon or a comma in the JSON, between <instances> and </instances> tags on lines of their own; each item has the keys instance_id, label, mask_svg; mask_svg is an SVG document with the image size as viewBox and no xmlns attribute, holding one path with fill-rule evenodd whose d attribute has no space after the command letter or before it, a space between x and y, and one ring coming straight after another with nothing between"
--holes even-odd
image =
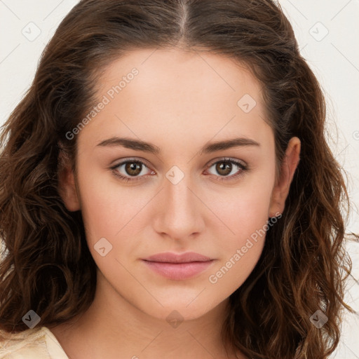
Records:
<instances>
[{"instance_id":1,"label":"fuller pink lower lip of the woman's closed mouth","mask_svg":"<svg viewBox=\"0 0 359 359\"><path fill-rule=\"evenodd\" d=\"M185 280L205 271L212 264L208 262L163 263L143 261L156 273L172 280Z\"/></svg>"}]
</instances>

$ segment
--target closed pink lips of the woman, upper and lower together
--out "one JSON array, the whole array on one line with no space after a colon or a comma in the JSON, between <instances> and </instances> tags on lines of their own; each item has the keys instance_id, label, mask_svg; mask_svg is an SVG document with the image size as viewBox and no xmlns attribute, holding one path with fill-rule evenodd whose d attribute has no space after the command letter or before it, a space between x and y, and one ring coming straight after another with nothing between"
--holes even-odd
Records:
<instances>
[{"instance_id":1,"label":"closed pink lips of the woman, upper and lower together","mask_svg":"<svg viewBox=\"0 0 359 359\"><path fill-rule=\"evenodd\" d=\"M144 264L157 274L171 280L186 280L208 269L215 259L195 252L175 254L171 252L158 253L142 259Z\"/></svg>"}]
</instances>

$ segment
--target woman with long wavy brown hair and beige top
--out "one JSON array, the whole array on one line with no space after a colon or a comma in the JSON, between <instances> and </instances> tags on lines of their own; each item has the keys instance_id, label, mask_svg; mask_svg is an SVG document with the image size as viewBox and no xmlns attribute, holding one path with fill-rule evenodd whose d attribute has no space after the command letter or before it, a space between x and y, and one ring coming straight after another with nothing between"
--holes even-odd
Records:
<instances>
[{"instance_id":1,"label":"woman with long wavy brown hair and beige top","mask_svg":"<svg viewBox=\"0 0 359 359\"><path fill-rule=\"evenodd\" d=\"M278 4L80 1L1 135L0 358L327 358L324 127Z\"/></svg>"}]
</instances>

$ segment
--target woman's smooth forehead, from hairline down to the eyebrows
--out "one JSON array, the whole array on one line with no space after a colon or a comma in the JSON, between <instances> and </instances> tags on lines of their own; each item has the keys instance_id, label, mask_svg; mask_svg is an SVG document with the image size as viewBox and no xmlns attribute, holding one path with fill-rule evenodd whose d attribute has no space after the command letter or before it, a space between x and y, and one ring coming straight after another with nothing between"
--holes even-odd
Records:
<instances>
[{"instance_id":1,"label":"woman's smooth forehead, from hairline down to the eyebrows","mask_svg":"<svg viewBox=\"0 0 359 359\"><path fill-rule=\"evenodd\" d=\"M131 50L104 69L97 88L97 100L107 103L80 137L151 135L151 142L158 137L175 144L184 136L191 142L232 133L254 140L268 135L259 81L223 55Z\"/></svg>"}]
</instances>

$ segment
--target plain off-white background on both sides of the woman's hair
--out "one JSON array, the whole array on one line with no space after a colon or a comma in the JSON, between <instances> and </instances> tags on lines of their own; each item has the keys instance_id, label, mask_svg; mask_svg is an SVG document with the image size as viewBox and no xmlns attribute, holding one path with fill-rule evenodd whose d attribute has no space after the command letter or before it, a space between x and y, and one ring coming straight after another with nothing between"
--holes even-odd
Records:
<instances>
[{"instance_id":1,"label":"plain off-white background on both sides of the woman's hair","mask_svg":"<svg viewBox=\"0 0 359 359\"><path fill-rule=\"evenodd\" d=\"M221 0L218 0L221 1ZM34 78L41 52L77 0L0 0L0 126ZM280 0L327 97L330 146L348 172L352 215L348 231L359 233L359 0ZM346 301L359 311L359 245ZM356 280L355 280L356 278ZM337 351L330 358L359 358L359 316L347 313Z\"/></svg>"}]
</instances>

